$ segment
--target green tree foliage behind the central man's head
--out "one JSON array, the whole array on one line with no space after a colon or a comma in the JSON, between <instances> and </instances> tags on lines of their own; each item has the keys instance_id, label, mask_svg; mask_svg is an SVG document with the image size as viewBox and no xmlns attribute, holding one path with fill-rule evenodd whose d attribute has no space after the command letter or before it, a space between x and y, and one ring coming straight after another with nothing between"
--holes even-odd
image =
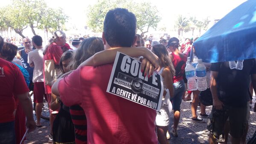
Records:
<instances>
[{"instance_id":1,"label":"green tree foliage behind the central man's head","mask_svg":"<svg viewBox=\"0 0 256 144\"><path fill-rule=\"evenodd\" d=\"M157 8L149 2L136 3L131 0L99 0L95 5L89 6L87 14L88 27L94 32L102 32L106 13L116 7L128 9L135 14L137 29L141 34L148 32L150 27L156 29L157 24L161 20Z\"/></svg>"}]
</instances>

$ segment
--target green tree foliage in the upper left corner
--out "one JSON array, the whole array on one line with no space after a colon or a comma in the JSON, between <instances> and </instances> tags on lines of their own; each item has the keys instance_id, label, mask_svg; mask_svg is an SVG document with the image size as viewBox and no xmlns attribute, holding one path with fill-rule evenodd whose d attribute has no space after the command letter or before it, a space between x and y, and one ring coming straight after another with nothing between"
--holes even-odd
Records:
<instances>
[{"instance_id":1,"label":"green tree foliage in the upper left corner","mask_svg":"<svg viewBox=\"0 0 256 144\"><path fill-rule=\"evenodd\" d=\"M48 8L44 0L12 0L12 4L1 8L0 16L1 29L11 27L23 38L22 32L28 26L36 35L35 28L61 29L68 19L62 9Z\"/></svg>"}]
</instances>

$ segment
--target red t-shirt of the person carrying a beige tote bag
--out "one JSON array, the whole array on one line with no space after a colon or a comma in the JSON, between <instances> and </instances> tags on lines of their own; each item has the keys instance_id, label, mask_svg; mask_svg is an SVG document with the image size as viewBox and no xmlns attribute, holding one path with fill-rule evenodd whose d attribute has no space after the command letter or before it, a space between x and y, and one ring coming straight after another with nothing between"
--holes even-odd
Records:
<instances>
[{"instance_id":1,"label":"red t-shirt of the person carrying a beige tote bag","mask_svg":"<svg viewBox=\"0 0 256 144\"><path fill-rule=\"evenodd\" d=\"M62 49L59 45L56 43L50 44L50 46L47 48L47 51L44 55L44 61L45 60L50 60L53 59L55 65L59 65L60 58L62 57ZM43 71L44 74L44 71ZM45 79L45 77L44 77ZM45 94L50 94L51 92L51 86L50 85L45 85L45 80L44 80L44 91Z\"/></svg>"}]
</instances>

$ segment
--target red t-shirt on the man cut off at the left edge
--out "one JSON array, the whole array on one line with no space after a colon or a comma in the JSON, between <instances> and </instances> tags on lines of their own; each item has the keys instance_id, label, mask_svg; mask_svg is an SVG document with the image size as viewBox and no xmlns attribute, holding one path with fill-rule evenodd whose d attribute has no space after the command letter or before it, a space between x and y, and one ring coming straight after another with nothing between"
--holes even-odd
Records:
<instances>
[{"instance_id":1,"label":"red t-shirt on the man cut off at the left edge","mask_svg":"<svg viewBox=\"0 0 256 144\"><path fill-rule=\"evenodd\" d=\"M0 123L14 121L14 95L29 91L20 69L0 58Z\"/></svg>"}]
</instances>

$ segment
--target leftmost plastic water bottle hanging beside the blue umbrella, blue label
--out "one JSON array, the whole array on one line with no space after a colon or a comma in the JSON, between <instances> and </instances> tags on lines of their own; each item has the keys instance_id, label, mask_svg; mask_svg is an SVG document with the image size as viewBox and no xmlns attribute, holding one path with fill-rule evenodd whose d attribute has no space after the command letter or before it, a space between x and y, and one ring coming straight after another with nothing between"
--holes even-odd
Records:
<instances>
[{"instance_id":1,"label":"leftmost plastic water bottle hanging beside the blue umbrella, blue label","mask_svg":"<svg viewBox=\"0 0 256 144\"><path fill-rule=\"evenodd\" d=\"M195 76L195 68L191 65L190 57L188 57L186 67L185 67L186 78L188 79L188 91L197 90L197 82Z\"/></svg>"}]
</instances>

